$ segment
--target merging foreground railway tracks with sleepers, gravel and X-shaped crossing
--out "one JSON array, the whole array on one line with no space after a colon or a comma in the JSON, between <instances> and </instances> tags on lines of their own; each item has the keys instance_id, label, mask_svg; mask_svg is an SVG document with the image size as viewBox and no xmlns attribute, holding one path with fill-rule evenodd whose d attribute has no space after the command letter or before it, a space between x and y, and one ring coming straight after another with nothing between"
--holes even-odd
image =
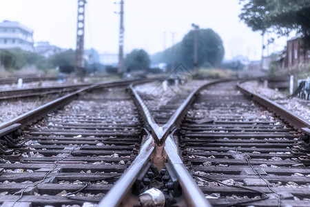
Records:
<instances>
[{"instance_id":1,"label":"merging foreground railway tracks with sleepers, gravel and X-shaped crossing","mask_svg":"<svg viewBox=\"0 0 310 207\"><path fill-rule=\"evenodd\" d=\"M26 146L4 152L0 202L309 206L309 157L299 143L307 123L286 116L291 126L282 124L232 86L207 83L159 108L134 86L134 99L125 88L80 95L23 128L17 140ZM12 124L26 122L2 128L18 135Z\"/></svg>"}]
</instances>

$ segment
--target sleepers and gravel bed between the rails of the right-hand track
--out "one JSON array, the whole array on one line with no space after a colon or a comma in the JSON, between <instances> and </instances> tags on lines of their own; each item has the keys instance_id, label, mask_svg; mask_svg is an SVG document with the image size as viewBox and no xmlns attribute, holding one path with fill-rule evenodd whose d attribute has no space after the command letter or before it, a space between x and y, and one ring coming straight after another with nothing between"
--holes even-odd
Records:
<instances>
[{"instance_id":1,"label":"sleepers and gravel bed between the rails of the right-hand track","mask_svg":"<svg viewBox=\"0 0 310 207\"><path fill-rule=\"evenodd\" d=\"M212 205L310 205L310 169L293 150L300 134L231 83L202 90L181 131L183 158Z\"/></svg>"}]
</instances>

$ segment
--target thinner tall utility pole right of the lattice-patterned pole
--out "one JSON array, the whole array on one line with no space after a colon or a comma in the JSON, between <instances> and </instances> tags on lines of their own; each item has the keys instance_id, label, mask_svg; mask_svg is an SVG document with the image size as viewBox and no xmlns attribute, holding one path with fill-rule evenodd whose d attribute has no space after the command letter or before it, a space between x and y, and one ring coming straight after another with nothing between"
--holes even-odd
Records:
<instances>
[{"instance_id":1,"label":"thinner tall utility pole right of the lattice-patterned pole","mask_svg":"<svg viewBox=\"0 0 310 207\"><path fill-rule=\"evenodd\" d=\"M120 27L119 27L119 39L118 39L118 75L119 77L123 77L123 69L124 69L124 1L121 0L121 12L120 14Z\"/></svg>"}]
</instances>

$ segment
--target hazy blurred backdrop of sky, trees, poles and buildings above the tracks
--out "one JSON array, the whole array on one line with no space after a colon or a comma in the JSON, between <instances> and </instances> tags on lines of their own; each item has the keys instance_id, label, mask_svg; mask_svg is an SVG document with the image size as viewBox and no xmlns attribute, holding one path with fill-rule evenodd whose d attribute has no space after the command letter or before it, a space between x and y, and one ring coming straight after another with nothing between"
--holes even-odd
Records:
<instances>
[{"instance_id":1,"label":"hazy blurred backdrop of sky, trees, poles and buildings above the tracks","mask_svg":"<svg viewBox=\"0 0 310 207\"><path fill-rule=\"evenodd\" d=\"M310 2L275 2L0 0L0 76L307 77Z\"/></svg>"}]
</instances>

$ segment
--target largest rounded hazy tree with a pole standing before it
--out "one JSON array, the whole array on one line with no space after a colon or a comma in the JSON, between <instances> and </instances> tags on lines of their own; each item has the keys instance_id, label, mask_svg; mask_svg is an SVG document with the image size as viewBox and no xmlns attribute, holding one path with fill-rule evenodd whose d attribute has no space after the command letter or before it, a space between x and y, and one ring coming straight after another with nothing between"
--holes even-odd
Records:
<instances>
[{"instance_id":1,"label":"largest rounded hazy tree with a pole standing before it","mask_svg":"<svg viewBox=\"0 0 310 207\"><path fill-rule=\"evenodd\" d=\"M194 33L197 32L197 67L219 66L224 57L223 41L214 30L199 29L188 32L181 42L180 57L185 66L194 66Z\"/></svg>"}]
</instances>

